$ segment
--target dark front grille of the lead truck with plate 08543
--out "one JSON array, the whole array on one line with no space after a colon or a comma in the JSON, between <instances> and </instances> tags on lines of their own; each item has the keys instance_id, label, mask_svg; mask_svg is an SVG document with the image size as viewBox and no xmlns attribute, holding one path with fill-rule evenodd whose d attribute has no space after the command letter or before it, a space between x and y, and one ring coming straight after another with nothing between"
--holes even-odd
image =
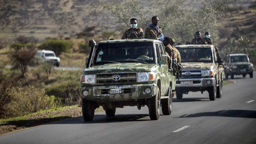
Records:
<instances>
[{"instance_id":1,"label":"dark front grille of the lead truck with plate 08543","mask_svg":"<svg viewBox=\"0 0 256 144\"><path fill-rule=\"evenodd\" d=\"M112 77L119 75L120 80L114 81ZM137 73L106 73L96 75L96 84L119 84L119 83L136 83Z\"/></svg>"}]
</instances>

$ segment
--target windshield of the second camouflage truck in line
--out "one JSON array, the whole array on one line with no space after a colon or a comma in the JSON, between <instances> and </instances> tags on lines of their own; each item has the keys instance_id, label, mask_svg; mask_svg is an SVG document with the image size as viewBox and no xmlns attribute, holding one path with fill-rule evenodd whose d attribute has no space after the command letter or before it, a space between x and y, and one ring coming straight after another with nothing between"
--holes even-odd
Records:
<instances>
[{"instance_id":1,"label":"windshield of the second camouflage truck in line","mask_svg":"<svg viewBox=\"0 0 256 144\"><path fill-rule=\"evenodd\" d=\"M211 48L178 48L181 62L212 62Z\"/></svg>"}]
</instances>

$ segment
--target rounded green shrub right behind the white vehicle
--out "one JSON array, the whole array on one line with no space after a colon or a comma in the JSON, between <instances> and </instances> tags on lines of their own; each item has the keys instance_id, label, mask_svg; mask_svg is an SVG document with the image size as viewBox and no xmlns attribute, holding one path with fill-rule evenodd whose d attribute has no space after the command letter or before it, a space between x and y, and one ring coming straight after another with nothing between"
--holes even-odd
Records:
<instances>
[{"instance_id":1,"label":"rounded green shrub right behind the white vehicle","mask_svg":"<svg viewBox=\"0 0 256 144\"><path fill-rule=\"evenodd\" d=\"M70 41L60 40L60 39L47 39L41 45L38 46L39 49L51 50L59 56L62 52L68 52L72 48L73 43Z\"/></svg>"}]
</instances>

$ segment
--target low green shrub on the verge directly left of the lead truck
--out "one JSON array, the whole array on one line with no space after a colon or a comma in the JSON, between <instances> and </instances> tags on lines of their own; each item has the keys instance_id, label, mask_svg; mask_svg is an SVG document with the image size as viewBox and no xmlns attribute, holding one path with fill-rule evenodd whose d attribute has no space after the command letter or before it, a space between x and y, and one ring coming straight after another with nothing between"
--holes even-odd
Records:
<instances>
[{"instance_id":1,"label":"low green shrub on the verge directly left of the lead truck","mask_svg":"<svg viewBox=\"0 0 256 144\"><path fill-rule=\"evenodd\" d=\"M45 89L47 95L54 95L65 105L79 104L79 81L68 81Z\"/></svg>"}]
</instances>

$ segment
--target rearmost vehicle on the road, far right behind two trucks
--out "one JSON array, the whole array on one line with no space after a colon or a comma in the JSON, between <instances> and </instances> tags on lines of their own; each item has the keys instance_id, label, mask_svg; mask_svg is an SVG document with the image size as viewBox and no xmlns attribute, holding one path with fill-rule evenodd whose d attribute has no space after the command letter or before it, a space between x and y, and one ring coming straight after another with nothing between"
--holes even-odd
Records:
<instances>
[{"instance_id":1,"label":"rearmost vehicle on the road, far right behind two trucks","mask_svg":"<svg viewBox=\"0 0 256 144\"><path fill-rule=\"evenodd\" d=\"M231 71L225 68L225 77L228 79L230 76L232 79L234 75L243 75L245 77L247 74L253 77L253 64L250 62L246 54L228 54L226 56L226 64Z\"/></svg>"}]
</instances>

